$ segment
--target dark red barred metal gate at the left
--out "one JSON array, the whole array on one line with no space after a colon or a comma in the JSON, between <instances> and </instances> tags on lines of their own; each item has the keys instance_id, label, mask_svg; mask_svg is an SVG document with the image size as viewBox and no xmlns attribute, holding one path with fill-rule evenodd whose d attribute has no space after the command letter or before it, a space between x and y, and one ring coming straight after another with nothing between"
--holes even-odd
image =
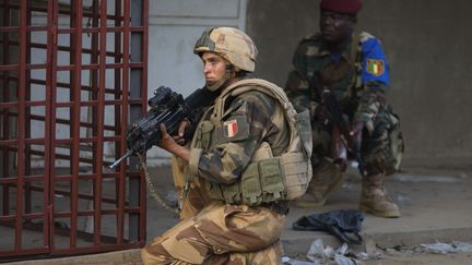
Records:
<instances>
[{"instance_id":1,"label":"dark red barred metal gate at the left","mask_svg":"<svg viewBox=\"0 0 472 265\"><path fill-rule=\"evenodd\" d=\"M0 2L0 261L142 246L148 0Z\"/></svg>"}]
</instances>

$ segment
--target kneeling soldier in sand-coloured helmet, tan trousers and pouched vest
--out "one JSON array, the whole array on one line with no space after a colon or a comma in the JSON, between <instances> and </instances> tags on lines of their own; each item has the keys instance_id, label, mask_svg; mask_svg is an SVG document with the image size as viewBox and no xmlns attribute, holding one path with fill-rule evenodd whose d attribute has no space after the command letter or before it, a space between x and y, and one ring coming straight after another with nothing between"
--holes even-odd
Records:
<instances>
[{"instance_id":1,"label":"kneeling soldier in sand-coloured helmet, tan trousers and pouched vest","mask_svg":"<svg viewBox=\"0 0 472 265\"><path fill-rule=\"evenodd\" d=\"M210 28L193 51L205 87L220 95L196 125L190 148L164 124L157 145L188 162L184 204L191 186L204 186L210 202L145 245L143 262L281 264L288 201L311 178L309 113L297 113L282 88L249 77L257 49L241 31Z\"/></svg>"}]
</instances>

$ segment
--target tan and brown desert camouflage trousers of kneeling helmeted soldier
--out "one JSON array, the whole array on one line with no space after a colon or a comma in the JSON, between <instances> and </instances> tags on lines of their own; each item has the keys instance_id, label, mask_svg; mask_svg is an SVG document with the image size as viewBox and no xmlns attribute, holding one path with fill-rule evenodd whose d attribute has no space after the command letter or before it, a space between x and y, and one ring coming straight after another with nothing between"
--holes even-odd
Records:
<instances>
[{"instance_id":1,"label":"tan and brown desert camouflage trousers of kneeling helmeted soldier","mask_svg":"<svg viewBox=\"0 0 472 265\"><path fill-rule=\"evenodd\" d=\"M212 202L141 251L144 264L281 264L285 216Z\"/></svg>"}]
</instances>

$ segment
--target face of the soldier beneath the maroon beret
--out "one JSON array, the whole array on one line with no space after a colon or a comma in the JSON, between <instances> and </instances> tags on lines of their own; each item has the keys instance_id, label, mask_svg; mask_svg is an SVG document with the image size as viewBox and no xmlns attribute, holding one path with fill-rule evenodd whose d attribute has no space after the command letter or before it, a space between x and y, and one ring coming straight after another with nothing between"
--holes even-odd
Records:
<instances>
[{"instance_id":1,"label":"face of the soldier beneath the maroon beret","mask_svg":"<svg viewBox=\"0 0 472 265\"><path fill-rule=\"evenodd\" d=\"M350 14L321 10L319 24L322 38L329 43L339 43L351 37L355 19Z\"/></svg>"}]
</instances>

